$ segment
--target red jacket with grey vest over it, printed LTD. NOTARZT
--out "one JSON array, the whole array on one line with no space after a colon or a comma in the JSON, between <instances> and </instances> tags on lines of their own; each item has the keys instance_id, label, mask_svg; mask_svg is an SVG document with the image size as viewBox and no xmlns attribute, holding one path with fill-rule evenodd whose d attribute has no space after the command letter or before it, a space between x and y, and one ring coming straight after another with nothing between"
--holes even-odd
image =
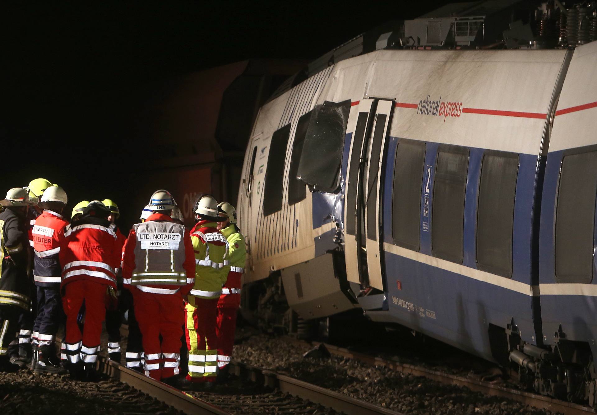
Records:
<instances>
[{"instance_id":1,"label":"red jacket with grey vest over it, printed LTD. NOTARZT","mask_svg":"<svg viewBox=\"0 0 597 415\"><path fill-rule=\"evenodd\" d=\"M177 238L180 241L180 234L182 233L182 243L174 241L170 245L170 242L163 242L168 244L165 249L164 247L153 248L149 245L146 249L143 244L149 243L150 239L143 238L153 236L152 232L148 233L147 231L156 228L156 226L151 226L154 224L149 224L152 221L173 222L168 215L154 213L144 223L133 226L122 251L124 287L128 288L133 295L141 290L146 293L176 294L184 297L195 284L195 256L193 255L193 244L190 240L189 231L175 223L172 225L168 225L168 223L155 224L157 228L179 227L180 229L177 228L177 232L180 232L178 234L173 233L174 229L169 229L166 233L155 232L155 235L162 237L170 235L173 238L179 235ZM140 229L140 235L137 235L137 229ZM136 252L143 256L137 259ZM169 254L164 255L163 253ZM170 270L172 272L167 272ZM176 276L173 276L175 274ZM172 280L172 284L168 283L169 279Z\"/></svg>"}]
</instances>

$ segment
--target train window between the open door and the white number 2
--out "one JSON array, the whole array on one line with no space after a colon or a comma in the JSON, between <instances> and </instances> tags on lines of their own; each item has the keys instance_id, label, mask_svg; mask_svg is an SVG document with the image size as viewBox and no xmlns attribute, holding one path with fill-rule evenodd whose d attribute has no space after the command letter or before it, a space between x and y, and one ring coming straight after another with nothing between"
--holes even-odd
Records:
<instances>
[{"instance_id":1,"label":"train window between the open door and the white number 2","mask_svg":"<svg viewBox=\"0 0 597 415\"><path fill-rule=\"evenodd\" d=\"M425 143L401 139L394 163L392 236L397 245L420 247L421 183L425 170Z\"/></svg>"}]
</instances>

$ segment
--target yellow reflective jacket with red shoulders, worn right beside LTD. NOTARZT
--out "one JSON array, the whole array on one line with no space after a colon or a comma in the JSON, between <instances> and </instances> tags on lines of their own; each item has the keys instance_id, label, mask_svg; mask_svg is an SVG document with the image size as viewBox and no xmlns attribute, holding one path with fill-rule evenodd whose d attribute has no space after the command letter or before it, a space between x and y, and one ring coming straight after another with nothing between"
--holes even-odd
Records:
<instances>
[{"instance_id":1,"label":"yellow reflective jacket with red shoulders, worn right beside LTD. NOTARZT","mask_svg":"<svg viewBox=\"0 0 597 415\"><path fill-rule=\"evenodd\" d=\"M228 273L228 241L216 228L216 222L202 220L190 231L195 251L195 286L190 294L204 299L220 297Z\"/></svg>"}]
</instances>

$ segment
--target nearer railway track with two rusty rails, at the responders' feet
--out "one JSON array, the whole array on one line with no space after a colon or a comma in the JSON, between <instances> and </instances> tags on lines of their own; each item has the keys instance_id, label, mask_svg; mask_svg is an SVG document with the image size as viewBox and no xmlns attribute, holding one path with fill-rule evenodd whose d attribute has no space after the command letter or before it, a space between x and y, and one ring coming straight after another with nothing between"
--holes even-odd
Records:
<instances>
[{"instance_id":1,"label":"nearer railway track with two rusty rails, at the responders' feet","mask_svg":"<svg viewBox=\"0 0 597 415\"><path fill-rule=\"evenodd\" d=\"M125 331L127 327L123 327ZM214 390L183 392L100 356L97 369L186 414L330 414L401 415L359 399L303 382L254 365L233 361L232 385ZM233 378L231 378L233 379ZM253 385L250 385L253 384Z\"/></svg>"}]
</instances>

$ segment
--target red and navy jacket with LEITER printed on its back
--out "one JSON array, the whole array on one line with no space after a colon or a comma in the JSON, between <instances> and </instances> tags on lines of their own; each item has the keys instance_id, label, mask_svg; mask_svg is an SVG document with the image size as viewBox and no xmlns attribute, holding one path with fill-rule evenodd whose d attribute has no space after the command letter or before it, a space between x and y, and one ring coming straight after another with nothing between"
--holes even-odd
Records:
<instances>
[{"instance_id":1,"label":"red and navy jacket with LEITER printed on its back","mask_svg":"<svg viewBox=\"0 0 597 415\"><path fill-rule=\"evenodd\" d=\"M44 212L35 220L31 230L35 253L33 260L35 285L50 287L53 284L60 284L62 270L59 252L67 225L69 222L61 214L49 209L44 209Z\"/></svg>"}]
</instances>

